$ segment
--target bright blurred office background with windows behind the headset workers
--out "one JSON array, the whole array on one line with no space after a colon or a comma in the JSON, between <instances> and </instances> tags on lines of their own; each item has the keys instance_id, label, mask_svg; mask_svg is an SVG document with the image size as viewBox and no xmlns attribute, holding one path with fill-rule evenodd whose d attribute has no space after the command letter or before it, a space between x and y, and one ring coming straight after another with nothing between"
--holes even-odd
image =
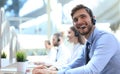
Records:
<instances>
[{"instance_id":1,"label":"bright blurred office background with windows behind the headset workers","mask_svg":"<svg viewBox=\"0 0 120 74\"><path fill-rule=\"evenodd\" d=\"M71 9L80 3L93 10L99 28L120 40L120 0L0 0L0 52L10 60L19 49L44 55L44 40L72 25Z\"/></svg>"}]
</instances>

